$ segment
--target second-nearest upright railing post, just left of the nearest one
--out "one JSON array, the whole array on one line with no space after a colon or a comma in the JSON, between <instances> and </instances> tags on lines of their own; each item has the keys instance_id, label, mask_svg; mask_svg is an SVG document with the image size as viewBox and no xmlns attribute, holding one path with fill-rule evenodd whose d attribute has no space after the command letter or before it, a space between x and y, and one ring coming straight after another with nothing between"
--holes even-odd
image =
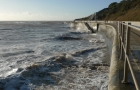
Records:
<instances>
[{"instance_id":1,"label":"second-nearest upright railing post, just left of the nearest one","mask_svg":"<svg viewBox=\"0 0 140 90\"><path fill-rule=\"evenodd\" d=\"M125 27L124 27L124 24L125 22L122 23L122 26L121 26L121 37L122 37L122 42L121 44L124 44L124 31L125 31ZM124 50L123 50L123 46L121 45L121 54L120 54L120 60L123 60L124 58Z\"/></svg>"}]
</instances>

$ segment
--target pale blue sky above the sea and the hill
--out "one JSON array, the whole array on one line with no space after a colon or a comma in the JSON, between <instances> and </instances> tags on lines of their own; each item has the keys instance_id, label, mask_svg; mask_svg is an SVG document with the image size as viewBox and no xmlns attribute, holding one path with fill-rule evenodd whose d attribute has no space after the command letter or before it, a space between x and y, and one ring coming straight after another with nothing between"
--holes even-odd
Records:
<instances>
[{"instance_id":1,"label":"pale blue sky above the sea and the hill","mask_svg":"<svg viewBox=\"0 0 140 90\"><path fill-rule=\"evenodd\" d=\"M0 21L71 21L121 0L0 0Z\"/></svg>"}]
</instances>

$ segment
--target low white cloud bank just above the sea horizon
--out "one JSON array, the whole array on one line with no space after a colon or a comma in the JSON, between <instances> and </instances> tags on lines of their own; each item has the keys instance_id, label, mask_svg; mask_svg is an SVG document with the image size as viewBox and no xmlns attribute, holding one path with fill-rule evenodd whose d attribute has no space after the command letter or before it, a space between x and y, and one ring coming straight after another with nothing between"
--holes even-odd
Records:
<instances>
[{"instance_id":1,"label":"low white cloud bank just above the sea horizon","mask_svg":"<svg viewBox=\"0 0 140 90\"><path fill-rule=\"evenodd\" d=\"M50 13L0 13L0 20L64 20L68 18L68 13L61 13L58 15Z\"/></svg>"}]
</instances>

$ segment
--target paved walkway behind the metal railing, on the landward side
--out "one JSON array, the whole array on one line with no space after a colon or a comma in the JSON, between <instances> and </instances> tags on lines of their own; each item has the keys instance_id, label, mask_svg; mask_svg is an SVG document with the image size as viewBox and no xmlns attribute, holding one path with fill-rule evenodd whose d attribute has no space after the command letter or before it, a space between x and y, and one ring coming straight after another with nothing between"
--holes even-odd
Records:
<instances>
[{"instance_id":1,"label":"paved walkway behind the metal railing, on the landward side","mask_svg":"<svg viewBox=\"0 0 140 90\"><path fill-rule=\"evenodd\" d=\"M108 23L108 25L112 25L115 28L117 28L114 24ZM126 30L126 28L127 27L124 27L124 30ZM126 34L124 37L126 37ZM126 38L124 38L124 39L126 40ZM132 67L134 69L134 73L135 73L138 85L140 86L140 31L138 31L136 29L130 29L129 58L130 58ZM121 69L119 70L119 77L120 77L120 80L123 80L124 58L123 58L123 60L119 60L119 64L121 64ZM136 90L130 71L128 72L128 84L122 84L122 81L120 81L120 90Z\"/></svg>"}]
</instances>

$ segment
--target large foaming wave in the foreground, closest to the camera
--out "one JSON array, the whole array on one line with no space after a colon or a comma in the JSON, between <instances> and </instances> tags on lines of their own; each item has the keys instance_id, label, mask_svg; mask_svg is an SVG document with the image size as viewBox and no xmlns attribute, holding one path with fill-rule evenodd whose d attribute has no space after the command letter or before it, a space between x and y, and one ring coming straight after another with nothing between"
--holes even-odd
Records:
<instances>
[{"instance_id":1,"label":"large foaming wave in the foreground, closest to the camera","mask_svg":"<svg viewBox=\"0 0 140 90\"><path fill-rule=\"evenodd\" d=\"M51 88L55 89L57 87L55 90L59 90L63 86L67 89L87 89L87 84L89 90L93 86L97 89L107 87L108 68L105 65L102 67L101 64L94 66L96 67L94 69L93 67L88 69L88 67L79 66L77 60L72 55L63 53L51 57L46 61L36 62L26 69L21 70L19 68L17 70L18 75L10 75L0 80L0 89L8 90L18 88L20 90L38 90L42 87L45 90L50 90ZM107 72L96 72L94 71L96 69L100 71L107 70Z\"/></svg>"}]
</instances>

